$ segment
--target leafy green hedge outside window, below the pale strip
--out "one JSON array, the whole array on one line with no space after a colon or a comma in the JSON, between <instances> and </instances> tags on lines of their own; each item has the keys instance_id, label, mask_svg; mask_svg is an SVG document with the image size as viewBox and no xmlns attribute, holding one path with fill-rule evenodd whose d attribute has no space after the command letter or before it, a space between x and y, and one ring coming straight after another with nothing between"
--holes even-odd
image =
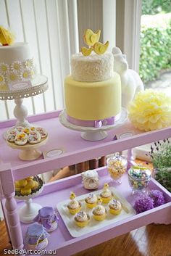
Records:
<instances>
[{"instance_id":1,"label":"leafy green hedge outside window, below the pale strip","mask_svg":"<svg viewBox=\"0 0 171 256\"><path fill-rule=\"evenodd\" d=\"M160 70L171 67L171 24L168 28L141 28L140 76L154 80Z\"/></svg>"}]
</instances>

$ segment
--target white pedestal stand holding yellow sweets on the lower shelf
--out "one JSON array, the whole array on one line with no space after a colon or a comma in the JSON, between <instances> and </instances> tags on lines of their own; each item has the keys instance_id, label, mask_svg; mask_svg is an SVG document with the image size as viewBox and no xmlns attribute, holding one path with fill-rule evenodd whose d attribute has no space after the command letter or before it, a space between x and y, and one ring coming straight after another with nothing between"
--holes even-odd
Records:
<instances>
[{"instance_id":1,"label":"white pedestal stand holding yellow sweets on the lower shelf","mask_svg":"<svg viewBox=\"0 0 171 256\"><path fill-rule=\"evenodd\" d=\"M41 180L41 178L39 178ZM33 202L33 197L37 197L38 194L41 194L41 192L43 191L43 181L42 182L42 186L41 188L36 191L33 194L28 194L28 196L17 196L15 195L16 199L19 200L25 200L25 205L23 205L19 210L19 216L20 216L20 221L22 223L32 223L33 219L36 217L36 215L38 215L38 210L40 210L42 208L41 205L38 205L36 203Z\"/></svg>"}]
</instances>

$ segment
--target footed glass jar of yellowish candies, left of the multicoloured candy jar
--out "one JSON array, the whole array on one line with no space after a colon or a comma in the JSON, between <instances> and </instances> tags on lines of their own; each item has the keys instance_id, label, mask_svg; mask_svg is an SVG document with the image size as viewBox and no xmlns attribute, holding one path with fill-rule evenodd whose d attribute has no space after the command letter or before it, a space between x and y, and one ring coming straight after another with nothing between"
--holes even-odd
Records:
<instances>
[{"instance_id":1,"label":"footed glass jar of yellowish candies, left of the multicoloured candy jar","mask_svg":"<svg viewBox=\"0 0 171 256\"><path fill-rule=\"evenodd\" d=\"M107 158L107 170L113 181L122 183L121 177L126 172L127 165L126 158L122 157L118 152Z\"/></svg>"}]
</instances>

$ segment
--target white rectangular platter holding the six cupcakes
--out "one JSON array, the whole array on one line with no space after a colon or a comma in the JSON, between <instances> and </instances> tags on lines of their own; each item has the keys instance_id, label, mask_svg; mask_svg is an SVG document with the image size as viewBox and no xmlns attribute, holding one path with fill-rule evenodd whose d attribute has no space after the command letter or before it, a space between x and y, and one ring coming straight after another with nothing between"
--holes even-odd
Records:
<instances>
[{"instance_id":1,"label":"white rectangular platter holding the six cupcakes","mask_svg":"<svg viewBox=\"0 0 171 256\"><path fill-rule=\"evenodd\" d=\"M106 218L104 218L103 221L97 221L93 218L92 211L93 209L88 208L86 206L85 198L88 197L88 194L83 194L79 197L77 197L77 200L81 203L81 210L86 212L90 216L90 220L88 224L84 228L80 228L79 226L76 225L75 223L75 215L71 215L67 205L68 202L70 202L70 199L64 200L63 202L59 202L57 204L57 210L59 214L62 217L62 220L65 223L65 226L67 227L67 230L70 232L72 237L78 237L78 236L83 236L84 234L88 234L92 231L96 231L99 228L103 228L104 226L110 226L112 223L116 223L119 220L123 220L125 218L128 218L130 216L135 215L135 210L133 207L130 205L130 203L122 197L122 195L117 191L117 189L111 187L110 188L112 191L112 199L117 199L120 200L122 204L122 210L119 215L112 215L109 212L109 207L108 205L102 205L105 207L107 210L107 215ZM93 194L96 194L96 197L99 197L101 194L102 189L93 191Z\"/></svg>"}]
</instances>

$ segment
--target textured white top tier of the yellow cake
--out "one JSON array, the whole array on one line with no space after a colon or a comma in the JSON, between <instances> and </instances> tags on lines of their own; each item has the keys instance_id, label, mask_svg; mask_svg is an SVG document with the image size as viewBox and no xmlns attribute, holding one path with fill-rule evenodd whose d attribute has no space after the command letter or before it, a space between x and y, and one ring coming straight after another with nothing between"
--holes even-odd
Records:
<instances>
[{"instance_id":1,"label":"textured white top tier of the yellow cake","mask_svg":"<svg viewBox=\"0 0 171 256\"><path fill-rule=\"evenodd\" d=\"M74 80L82 82L98 82L108 80L113 75L114 58L112 53L91 54L82 53L71 57L71 75Z\"/></svg>"}]
</instances>

